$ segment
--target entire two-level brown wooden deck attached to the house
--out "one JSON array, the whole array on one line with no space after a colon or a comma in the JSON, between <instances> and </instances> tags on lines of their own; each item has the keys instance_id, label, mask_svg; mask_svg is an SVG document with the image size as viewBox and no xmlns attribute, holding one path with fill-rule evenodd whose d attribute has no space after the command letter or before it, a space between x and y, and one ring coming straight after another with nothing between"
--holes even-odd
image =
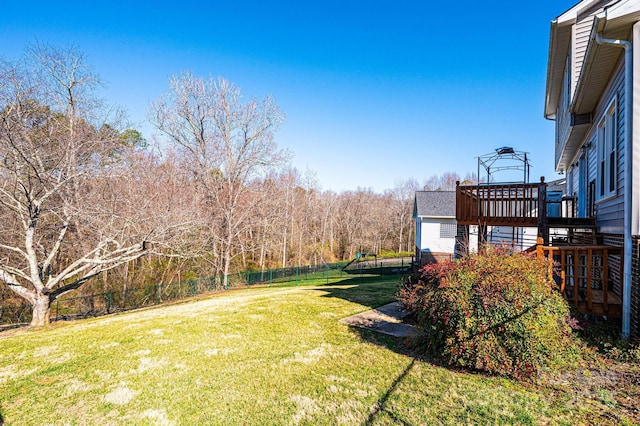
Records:
<instances>
[{"instance_id":1,"label":"entire two-level brown wooden deck attached to the house","mask_svg":"<svg viewBox=\"0 0 640 426\"><path fill-rule=\"evenodd\" d=\"M563 206L565 198L571 205ZM575 200L549 201L560 217L547 217L547 184L480 184L456 186L458 225L477 225L478 247L486 242L487 227L538 229L538 257L549 261L549 276L570 304L592 315L622 315L622 248L599 245L602 240L592 218L575 217ZM549 229L566 230L549 244ZM468 231L467 231L468 232Z\"/></svg>"}]
</instances>

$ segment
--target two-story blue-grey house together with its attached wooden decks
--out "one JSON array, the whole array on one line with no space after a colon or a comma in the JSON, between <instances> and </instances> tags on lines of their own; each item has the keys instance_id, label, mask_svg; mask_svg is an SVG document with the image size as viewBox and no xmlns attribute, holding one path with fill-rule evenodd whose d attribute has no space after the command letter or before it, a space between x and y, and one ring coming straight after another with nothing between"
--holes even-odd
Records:
<instances>
[{"instance_id":1,"label":"two-story blue-grey house together with its attached wooden decks","mask_svg":"<svg viewBox=\"0 0 640 426\"><path fill-rule=\"evenodd\" d=\"M477 226L482 245L496 227L535 228L528 250L569 303L621 318L627 338L640 335L639 102L640 2L583 0L552 21L549 42L544 116L565 184L456 186L458 235Z\"/></svg>"}]
</instances>

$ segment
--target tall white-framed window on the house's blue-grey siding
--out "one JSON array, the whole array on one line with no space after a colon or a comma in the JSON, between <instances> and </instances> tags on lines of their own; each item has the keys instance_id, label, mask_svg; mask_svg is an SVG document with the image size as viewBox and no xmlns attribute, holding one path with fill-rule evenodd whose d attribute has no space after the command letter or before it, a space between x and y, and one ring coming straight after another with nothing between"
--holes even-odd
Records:
<instances>
[{"instance_id":1,"label":"tall white-framed window on the house's blue-grey siding","mask_svg":"<svg viewBox=\"0 0 640 426\"><path fill-rule=\"evenodd\" d=\"M598 199L609 198L616 193L616 118L614 101L598 124Z\"/></svg>"}]
</instances>

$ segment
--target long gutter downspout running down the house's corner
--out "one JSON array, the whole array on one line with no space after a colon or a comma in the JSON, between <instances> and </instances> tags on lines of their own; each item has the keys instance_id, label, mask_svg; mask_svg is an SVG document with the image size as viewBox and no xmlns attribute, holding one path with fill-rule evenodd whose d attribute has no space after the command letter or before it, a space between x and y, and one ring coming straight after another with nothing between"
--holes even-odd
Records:
<instances>
[{"instance_id":1,"label":"long gutter downspout running down the house's corner","mask_svg":"<svg viewBox=\"0 0 640 426\"><path fill-rule=\"evenodd\" d=\"M605 10L606 13L606 10ZM606 16L606 15L605 15ZM596 18L597 19L597 18ZM605 18L606 19L606 18ZM597 25L597 23L596 23ZM633 141L631 124L633 96L633 46L627 40L613 40L596 33L596 43L624 48L624 270L622 280L622 336L629 340L631 334L631 266L633 261L633 240L631 238L631 208L633 192Z\"/></svg>"}]
</instances>

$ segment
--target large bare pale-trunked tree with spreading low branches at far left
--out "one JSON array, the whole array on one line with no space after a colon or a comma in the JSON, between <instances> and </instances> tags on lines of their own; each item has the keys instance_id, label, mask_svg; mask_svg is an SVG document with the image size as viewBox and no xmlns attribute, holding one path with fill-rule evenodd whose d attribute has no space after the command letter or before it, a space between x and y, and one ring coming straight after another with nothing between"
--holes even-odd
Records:
<instances>
[{"instance_id":1,"label":"large bare pale-trunked tree with spreading low branches at far left","mask_svg":"<svg viewBox=\"0 0 640 426\"><path fill-rule=\"evenodd\" d=\"M49 322L56 298L147 247L90 199L122 143L97 120L97 84L73 48L34 46L0 64L0 282L33 306L33 326Z\"/></svg>"}]
</instances>

